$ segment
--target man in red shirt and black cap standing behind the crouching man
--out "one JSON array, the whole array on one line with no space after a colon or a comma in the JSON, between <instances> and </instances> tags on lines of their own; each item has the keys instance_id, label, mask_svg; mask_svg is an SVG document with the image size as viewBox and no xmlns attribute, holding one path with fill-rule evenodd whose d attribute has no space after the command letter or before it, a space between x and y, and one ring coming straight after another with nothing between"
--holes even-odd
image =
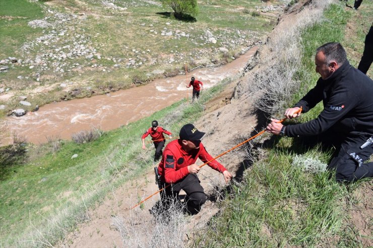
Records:
<instances>
[{"instance_id":1,"label":"man in red shirt and black cap standing behind the crouching man","mask_svg":"<svg viewBox=\"0 0 373 248\"><path fill-rule=\"evenodd\" d=\"M169 135L172 138L172 133L163 129L162 127L158 126L158 121L152 121L152 127L150 127L144 134L141 136L141 140L143 142L143 149L146 149L145 146L145 138L150 134L152 137L154 147L155 147L155 154L154 154L154 161L157 161L162 155L162 149L165 143L165 138L163 133Z\"/></svg>"}]
</instances>

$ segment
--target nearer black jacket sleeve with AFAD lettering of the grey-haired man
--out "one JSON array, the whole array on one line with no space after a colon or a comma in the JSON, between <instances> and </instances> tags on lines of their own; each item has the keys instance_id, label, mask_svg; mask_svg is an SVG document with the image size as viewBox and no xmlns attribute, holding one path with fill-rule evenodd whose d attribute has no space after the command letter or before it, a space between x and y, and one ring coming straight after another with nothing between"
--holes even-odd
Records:
<instances>
[{"instance_id":1,"label":"nearer black jacket sleeve with AFAD lettering of the grey-haired man","mask_svg":"<svg viewBox=\"0 0 373 248\"><path fill-rule=\"evenodd\" d=\"M297 135L312 136L323 133L348 114L358 101L358 97L350 90L343 87L335 89L324 110L316 119L286 126L285 135L294 137Z\"/></svg>"}]
</instances>

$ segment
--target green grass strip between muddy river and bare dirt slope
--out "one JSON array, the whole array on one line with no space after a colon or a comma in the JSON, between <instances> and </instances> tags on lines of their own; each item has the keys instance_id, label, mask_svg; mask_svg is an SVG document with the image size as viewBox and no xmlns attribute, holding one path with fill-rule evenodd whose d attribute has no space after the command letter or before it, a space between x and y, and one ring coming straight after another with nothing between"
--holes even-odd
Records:
<instances>
[{"instance_id":1,"label":"green grass strip between muddy river and bare dirt slope","mask_svg":"<svg viewBox=\"0 0 373 248\"><path fill-rule=\"evenodd\" d=\"M150 117L105 132L90 143L61 141L56 152L51 144L27 146L26 154L3 168L0 175L0 246L28 246L30 243L17 240L27 238L36 228L50 235L49 242L63 237L66 232L61 230L71 230L84 220L86 207L101 201L113 187L150 169L153 151L141 149L140 137L153 119L177 134L183 124L200 117L203 103L223 88L223 84L217 85L206 90L197 104L177 102ZM177 109L181 113L174 115ZM72 159L75 153L79 156Z\"/></svg>"}]
</instances>

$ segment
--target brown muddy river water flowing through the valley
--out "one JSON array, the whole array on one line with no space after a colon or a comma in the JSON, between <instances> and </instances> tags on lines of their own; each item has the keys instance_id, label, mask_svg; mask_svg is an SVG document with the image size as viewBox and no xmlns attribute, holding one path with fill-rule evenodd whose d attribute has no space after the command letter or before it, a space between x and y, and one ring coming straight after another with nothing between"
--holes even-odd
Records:
<instances>
[{"instance_id":1,"label":"brown muddy river water flowing through the valley","mask_svg":"<svg viewBox=\"0 0 373 248\"><path fill-rule=\"evenodd\" d=\"M205 89L226 77L232 77L244 68L256 50L257 47L253 47L231 63L220 67L201 68L187 75L156 79L147 85L120 90L109 96L51 103L22 117L7 117L9 134L3 142L12 143L10 133L38 144L47 142L47 137L71 139L72 134L82 130L100 128L107 131L127 125L186 98L187 91L191 98L192 88L187 89L186 86L192 76L202 81Z\"/></svg>"}]
</instances>

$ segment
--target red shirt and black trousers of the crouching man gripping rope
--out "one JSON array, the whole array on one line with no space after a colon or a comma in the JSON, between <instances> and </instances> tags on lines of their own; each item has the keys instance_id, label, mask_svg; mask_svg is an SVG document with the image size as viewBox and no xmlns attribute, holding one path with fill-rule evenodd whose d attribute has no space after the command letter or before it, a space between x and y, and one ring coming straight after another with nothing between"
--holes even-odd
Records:
<instances>
[{"instance_id":1,"label":"red shirt and black trousers of the crouching man gripping rope","mask_svg":"<svg viewBox=\"0 0 373 248\"><path fill-rule=\"evenodd\" d=\"M194 206L200 207L206 202L207 196L200 185L197 174L189 174L188 171L188 166L196 163L198 158L203 162L213 159L202 143L198 149L189 152L182 149L180 139L168 143L158 166L161 181L166 185L172 184L165 189L166 197L178 196L182 189L187 193L189 202ZM209 162L208 166L221 173L227 170L216 160Z\"/></svg>"}]
</instances>

